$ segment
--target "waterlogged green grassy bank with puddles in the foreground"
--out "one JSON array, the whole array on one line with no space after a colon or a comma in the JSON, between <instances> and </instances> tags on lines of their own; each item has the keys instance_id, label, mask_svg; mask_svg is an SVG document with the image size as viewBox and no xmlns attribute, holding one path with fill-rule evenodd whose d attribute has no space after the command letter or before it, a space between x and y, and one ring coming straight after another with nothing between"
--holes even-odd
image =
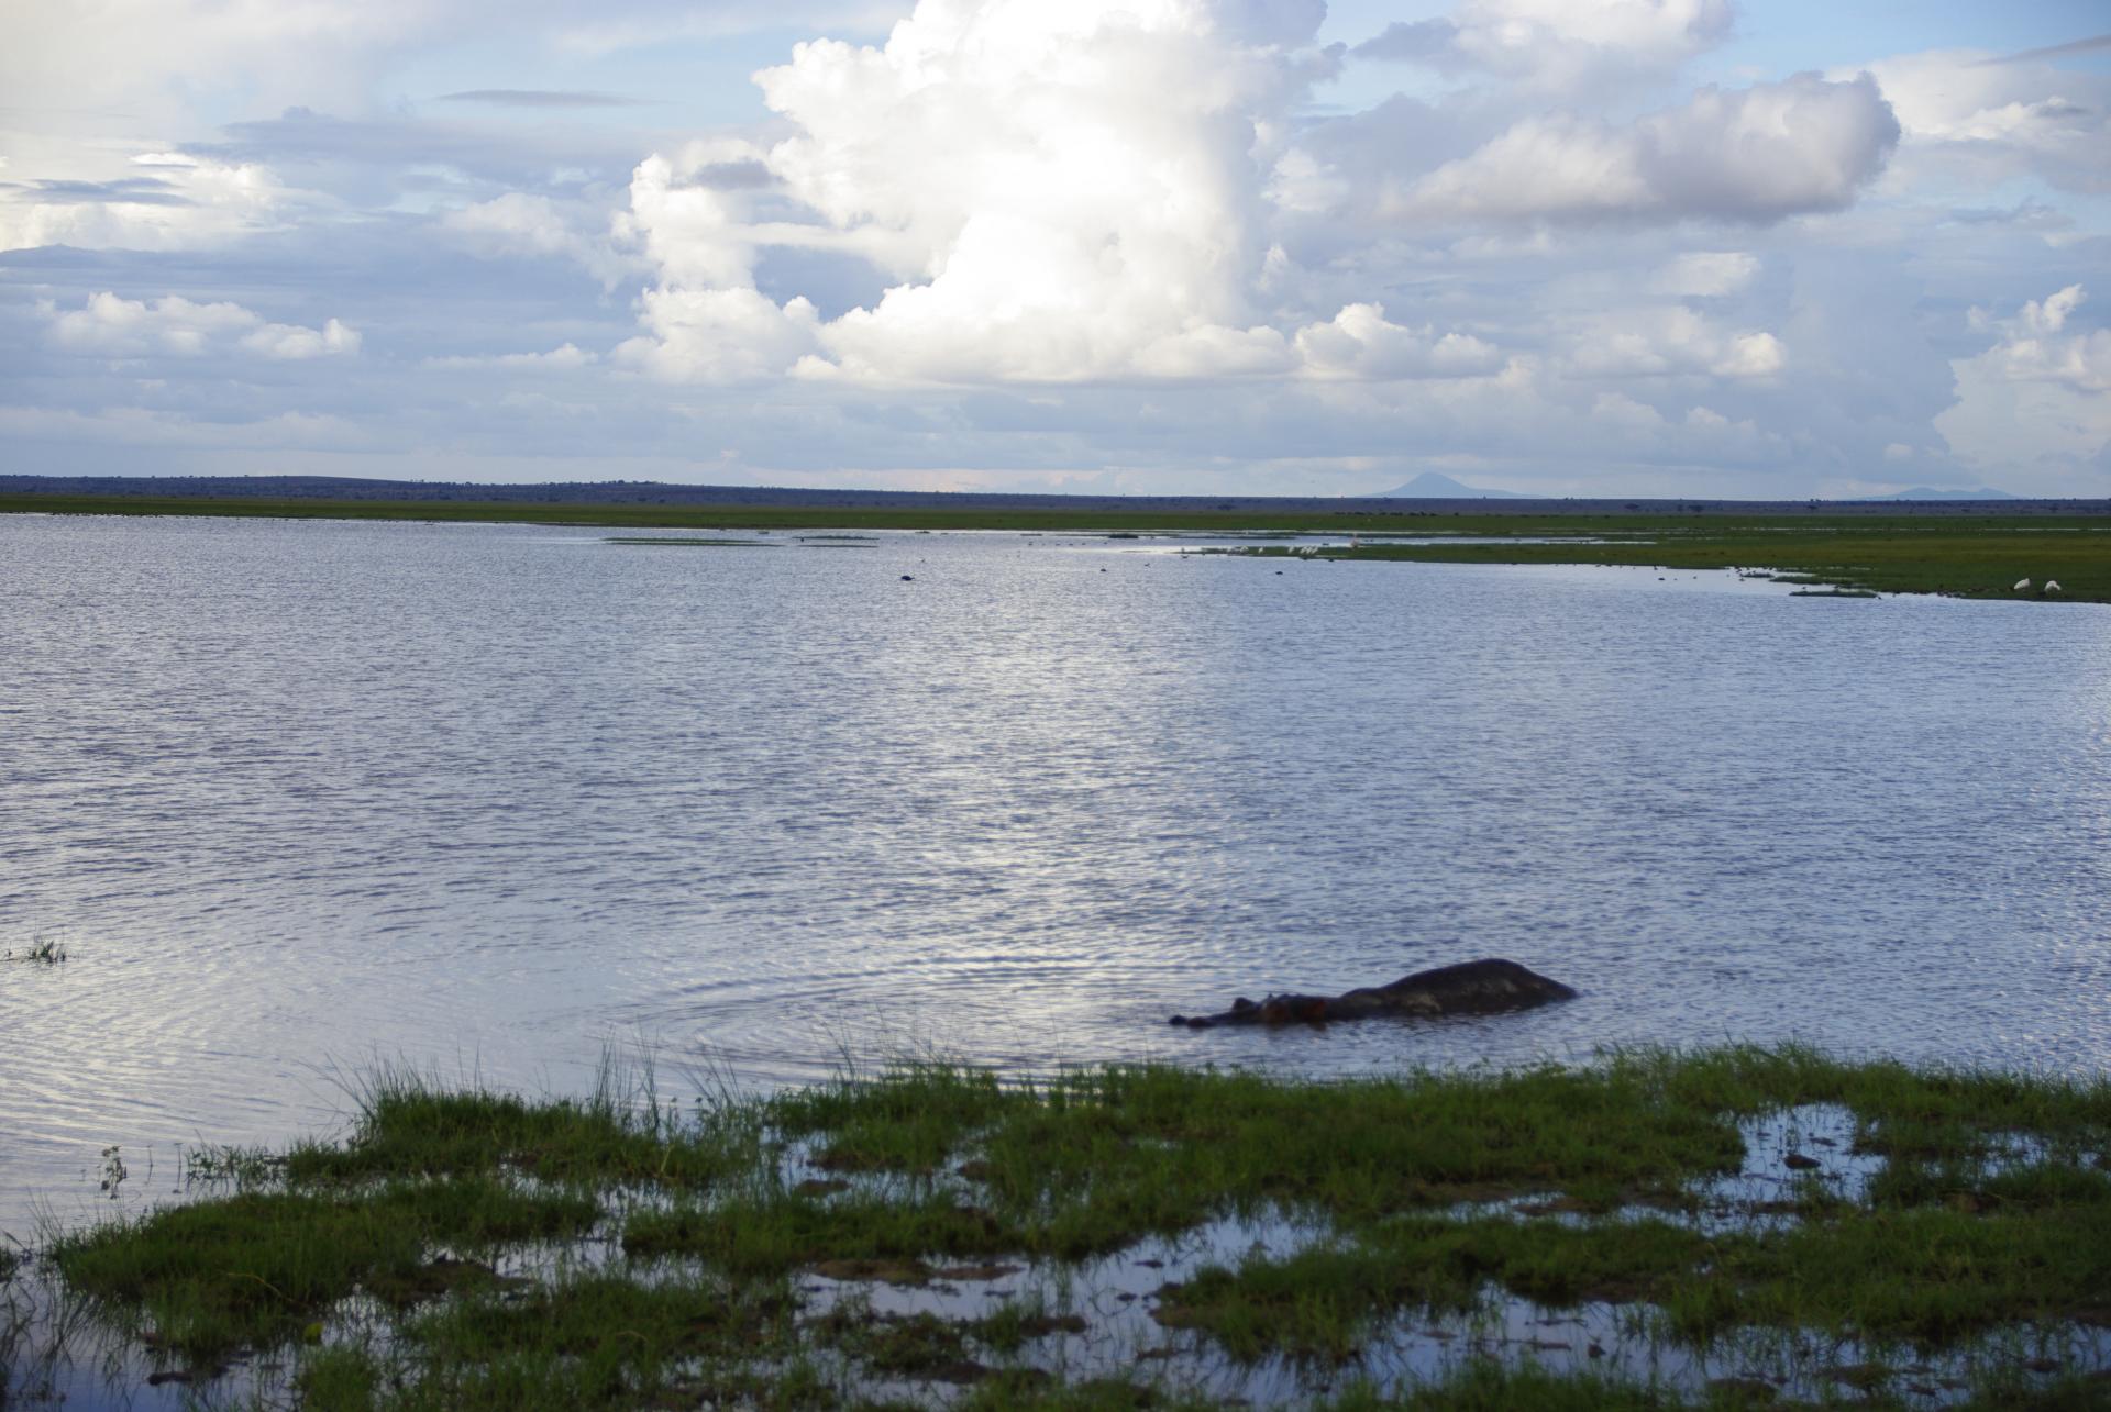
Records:
<instances>
[{"instance_id":1,"label":"waterlogged green grassy bank with puddles in the foreground","mask_svg":"<svg viewBox=\"0 0 2111 1412\"><path fill-rule=\"evenodd\" d=\"M686 1102L391 1076L342 1138L190 1178L38 1268L163 1370L279 1370L264 1404L2111 1404L2111 1081L1742 1047ZM1235 1222L1273 1237L1210 1243Z\"/></svg>"}]
</instances>

